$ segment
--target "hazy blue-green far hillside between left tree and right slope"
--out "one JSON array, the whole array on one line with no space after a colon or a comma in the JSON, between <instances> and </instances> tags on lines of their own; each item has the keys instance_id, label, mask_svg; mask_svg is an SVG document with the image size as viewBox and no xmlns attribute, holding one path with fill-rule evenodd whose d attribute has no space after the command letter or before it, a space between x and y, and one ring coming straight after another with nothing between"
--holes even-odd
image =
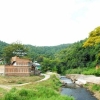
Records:
<instances>
[{"instance_id":1,"label":"hazy blue-green far hillside between left tree and right slope","mask_svg":"<svg viewBox=\"0 0 100 100\"><path fill-rule=\"evenodd\" d=\"M40 61L43 57L54 58L59 51L67 48L70 44L61 44L58 46L32 46L25 45L28 48L28 56L32 60Z\"/></svg>"}]
</instances>

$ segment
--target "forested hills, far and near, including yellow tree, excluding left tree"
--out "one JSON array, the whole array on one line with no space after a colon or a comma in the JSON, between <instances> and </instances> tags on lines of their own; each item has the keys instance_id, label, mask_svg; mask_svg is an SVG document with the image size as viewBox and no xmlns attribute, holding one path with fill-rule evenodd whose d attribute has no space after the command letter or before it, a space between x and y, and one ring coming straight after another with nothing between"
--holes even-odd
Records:
<instances>
[{"instance_id":1,"label":"forested hills, far and near, including yellow tree, excluding left tree","mask_svg":"<svg viewBox=\"0 0 100 100\"><path fill-rule=\"evenodd\" d=\"M3 57L7 44L0 41L0 57ZM100 64L100 27L89 33L89 37L73 44L58 46L32 46L24 45L27 57L41 64L42 71L57 71L66 73L69 69L94 68Z\"/></svg>"}]
</instances>

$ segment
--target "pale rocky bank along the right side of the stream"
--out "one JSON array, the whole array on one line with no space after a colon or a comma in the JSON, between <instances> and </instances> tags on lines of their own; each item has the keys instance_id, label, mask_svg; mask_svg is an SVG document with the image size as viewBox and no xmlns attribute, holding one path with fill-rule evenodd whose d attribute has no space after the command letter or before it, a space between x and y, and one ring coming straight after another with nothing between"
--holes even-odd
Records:
<instances>
[{"instance_id":1,"label":"pale rocky bank along the right side of the stream","mask_svg":"<svg viewBox=\"0 0 100 100\"><path fill-rule=\"evenodd\" d=\"M94 96L100 100L100 77L94 75L83 75L83 74L67 74L67 78L70 78L74 83L86 87L88 90L93 92ZM93 89L93 87L97 89ZM99 89L99 90L98 90Z\"/></svg>"}]
</instances>

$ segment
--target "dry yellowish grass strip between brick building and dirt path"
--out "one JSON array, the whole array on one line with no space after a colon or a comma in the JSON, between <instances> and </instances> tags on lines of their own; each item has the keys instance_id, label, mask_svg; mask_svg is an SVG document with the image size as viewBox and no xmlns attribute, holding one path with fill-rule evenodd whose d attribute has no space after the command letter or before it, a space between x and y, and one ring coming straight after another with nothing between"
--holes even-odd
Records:
<instances>
[{"instance_id":1,"label":"dry yellowish grass strip between brick building and dirt path","mask_svg":"<svg viewBox=\"0 0 100 100\"><path fill-rule=\"evenodd\" d=\"M42 79L43 76L27 76L27 77L15 77L15 76L0 76L0 84L23 84L28 82L35 82Z\"/></svg>"}]
</instances>

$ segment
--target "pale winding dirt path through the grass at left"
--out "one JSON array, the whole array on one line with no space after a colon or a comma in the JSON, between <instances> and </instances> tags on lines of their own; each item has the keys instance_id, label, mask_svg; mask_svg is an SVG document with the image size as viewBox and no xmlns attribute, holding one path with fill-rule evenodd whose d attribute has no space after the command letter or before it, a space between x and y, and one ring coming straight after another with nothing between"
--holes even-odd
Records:
<instances>
[{"instance_id":1,"label":"pale winding dirt path through the grass at left","mask_svg":"<svg viewBox=\"0 0 100 100\"><path fill-rule=\"evenodd\" d=\"M50 74L41 74L42 76L45 76L44 79L41 79L39 81L36 81L36 82L42 82L42 81L45 81L47 79L50 78ZM27 84L30 84L32 82L29 82L29 83L24 83L24 84L15 84L15 85L0 85L1 88L4 88L4 89L7 89L7 90L10 90L11 88L13 87L16 87L16 86L24 86L24 85L27 85Z\"/></svg>"}]
</instances>

